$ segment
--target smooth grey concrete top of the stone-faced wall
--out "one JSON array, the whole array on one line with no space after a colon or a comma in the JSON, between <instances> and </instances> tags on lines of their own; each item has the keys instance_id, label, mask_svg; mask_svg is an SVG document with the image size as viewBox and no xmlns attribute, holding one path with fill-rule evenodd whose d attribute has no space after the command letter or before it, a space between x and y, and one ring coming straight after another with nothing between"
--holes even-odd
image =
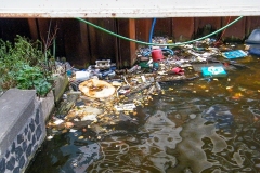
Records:
<instances>
[{"instance_id":1,"label":"smooth grey concrete top of the stone-faced wall","mask_svg":"<svg viewBox=\"0 0 260 173\"><path fill-rule=\"evenodd\" d=\"M10 89L0 99L0 157L35 109L36 91Z\"/></svg>"}]
</instances>

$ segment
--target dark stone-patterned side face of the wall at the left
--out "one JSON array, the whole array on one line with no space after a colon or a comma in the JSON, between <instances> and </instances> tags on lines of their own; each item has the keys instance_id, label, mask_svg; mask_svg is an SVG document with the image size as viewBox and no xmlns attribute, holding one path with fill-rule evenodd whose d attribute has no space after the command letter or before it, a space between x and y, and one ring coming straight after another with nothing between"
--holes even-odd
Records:
<instances>
[{"instance_id":1,"label":"dark stone-patterned side face of the wall at the left","mask_svg":"<svg viewBox=\"0 0 260 173\"><path fill-rule=\"evenodd\" d=\"M35 102L35 109L28 112L22 130L0 158L0 173L25 172L30 160L46 138L46 122L40 102ZM11 132L12 133L12 132Z\"/></svg>"}]
</instances>

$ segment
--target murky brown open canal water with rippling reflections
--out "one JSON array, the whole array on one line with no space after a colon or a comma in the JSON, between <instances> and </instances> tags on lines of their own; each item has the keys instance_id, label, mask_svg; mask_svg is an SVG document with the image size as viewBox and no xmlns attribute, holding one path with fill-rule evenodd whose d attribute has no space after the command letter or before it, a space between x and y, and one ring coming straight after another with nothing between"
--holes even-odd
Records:
<instances>
[{"instance_id":1,"label":"murky brown open canal water with rippling reflections","mask_svg":"<svg viewBox=\"0 0 260 173\"><path fill-rule=\"evenodd\" d=\"M138 107L100 141L83 131L46 141L26 173L260 172L260 59L226 77L161 83L164 93Z\"/></svg>"}]
</instances>

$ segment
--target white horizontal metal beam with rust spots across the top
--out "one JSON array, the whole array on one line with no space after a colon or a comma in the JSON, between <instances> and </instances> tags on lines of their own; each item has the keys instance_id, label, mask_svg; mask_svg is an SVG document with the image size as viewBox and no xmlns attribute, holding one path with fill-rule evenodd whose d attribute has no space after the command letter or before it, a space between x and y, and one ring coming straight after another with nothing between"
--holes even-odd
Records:
<instances>
[{"instance_id":1,"label":"white horizontal metal beam with rust spots across the top","mask_svg":"<svg viewBox=\"0 0 260 173\"><path fill-rule=\"evenodd\" d=\"M0 0L0 17L257 16L259 0Z\"/></svg>"}]
</instances>

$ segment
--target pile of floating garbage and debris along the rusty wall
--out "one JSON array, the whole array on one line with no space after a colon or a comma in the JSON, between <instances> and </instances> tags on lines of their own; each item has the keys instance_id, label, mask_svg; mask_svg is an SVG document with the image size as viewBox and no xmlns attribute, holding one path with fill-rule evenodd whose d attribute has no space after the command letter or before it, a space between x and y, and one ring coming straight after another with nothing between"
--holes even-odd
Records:
<instances>
[{"instance_id":1,"label":"pile of floating garbage and debris along the rusty wall","mask_svg":"<svg viewBox=\"0 0 260 173\"><path fill-rule=\"evenodd\" d=\"M235 61L247 56L246 51L237 50L235 44L216 43L206 39L174 48L139 48L135 64L126 69L117 69L110 59L96 61L83 70L69 66L70 90L48 123L48 139L76 131L82 134L79 139L90 141L127 133L117 124L138 125L136 108L147 106L155 95L165 94L161 83L225 77L229 69L247 68Z\"/></svg>"}]
</instances>

